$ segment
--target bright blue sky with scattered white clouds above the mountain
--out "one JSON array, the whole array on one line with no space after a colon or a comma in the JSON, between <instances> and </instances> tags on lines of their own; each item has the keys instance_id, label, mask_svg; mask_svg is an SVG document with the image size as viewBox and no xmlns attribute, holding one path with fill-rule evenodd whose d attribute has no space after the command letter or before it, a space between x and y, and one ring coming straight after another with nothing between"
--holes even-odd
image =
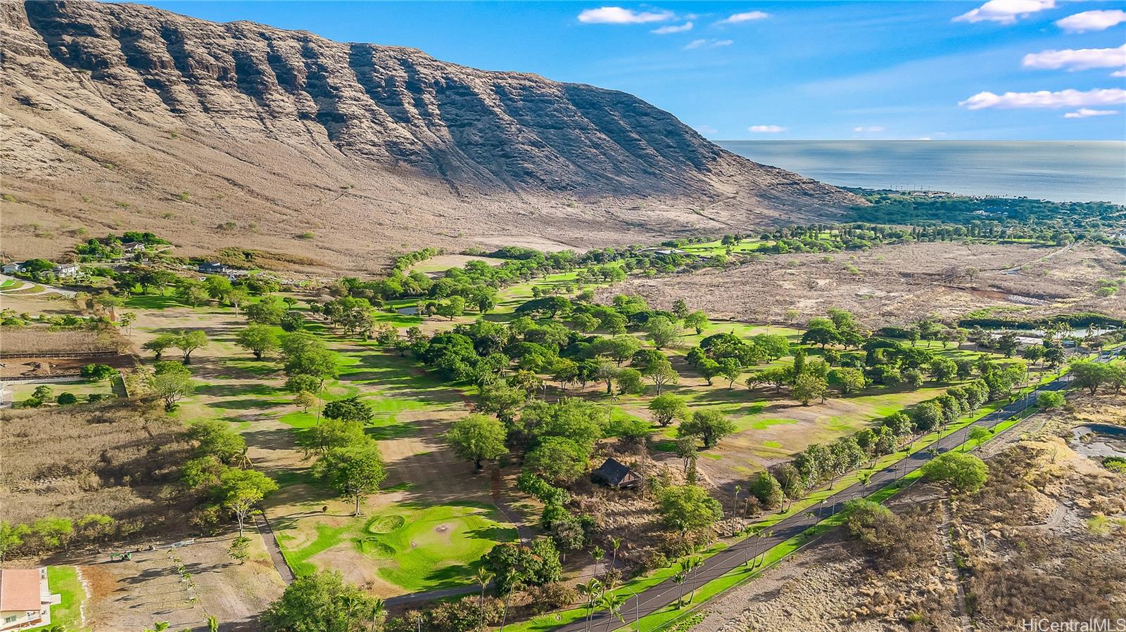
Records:
<instances>
[{"instance_id":1,"label":"bright blue sky with scattered white clouds above the mountain","mask_svg":"<svg viewBox=\"0 0 1126 632\"><path fill-rule=\"evenodd\" d=\"M711 138L1126 139L1121 1L150 3L624 90Z\"/></svg>"}]
</instances>

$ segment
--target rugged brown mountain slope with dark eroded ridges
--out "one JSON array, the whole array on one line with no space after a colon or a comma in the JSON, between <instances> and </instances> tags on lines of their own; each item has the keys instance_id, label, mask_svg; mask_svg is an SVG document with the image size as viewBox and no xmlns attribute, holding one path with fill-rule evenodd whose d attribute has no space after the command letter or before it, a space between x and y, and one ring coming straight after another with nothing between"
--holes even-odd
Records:
<instances>
[{"instance_id":1,"label":"rugged brown mountain slope with dark eroded ridges","mask_svg":"<svg viewBox=\"0 0 1126 632\"><path fill-rule=\"evenodd\" d=\"M0 7L11 256L120 227L357 269L406 247L620 244L857 201L623 92L137 4Z\"/></svg>"}]
</instances>

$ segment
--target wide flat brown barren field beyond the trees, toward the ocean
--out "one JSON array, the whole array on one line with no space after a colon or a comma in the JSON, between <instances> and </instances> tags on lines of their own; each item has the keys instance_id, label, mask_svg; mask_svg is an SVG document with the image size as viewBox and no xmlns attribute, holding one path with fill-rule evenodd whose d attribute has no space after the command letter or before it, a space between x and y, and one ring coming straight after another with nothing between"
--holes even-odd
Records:
<instances>
[{"instance_id":1,"label":"wide flat brown barren field beyond the trees, toward the ocean","mask_svg":"<svg viewBox=\"0 0 1126 632\"><path fill-rule=\"evenodd\" d=\"M874 325L958 317L983 307L1021 318L1087 310L1121 318L1126 297L1094 292L1099 279L1121 276L1126 256L1100 245L920 243L770 255L730 270L632 279L602 290L600 299L637 294L669 308L683 298L711 315L754 322L781 322L789 308L806 320L829 307L849 309Z\"/></svg>"}]
</instances>

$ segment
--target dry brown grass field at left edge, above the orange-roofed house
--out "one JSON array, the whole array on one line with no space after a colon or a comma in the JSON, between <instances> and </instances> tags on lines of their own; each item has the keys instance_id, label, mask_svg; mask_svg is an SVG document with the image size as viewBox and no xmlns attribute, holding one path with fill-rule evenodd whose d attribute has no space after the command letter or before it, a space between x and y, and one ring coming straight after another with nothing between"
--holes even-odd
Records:
<instances>
[{"instance_id":1,"label":"dry brown grass field at left edge, above the orange-roofed house","mask_svg":"<svg viewBox=\"0 0 1126 632\"><path fill-rule=\"evenodd\" d=\"M166 520L164 486L189 445L182 427L129 401L0 413L0 518L100 513L145 525Z\"/></svg>"}]
</instances>

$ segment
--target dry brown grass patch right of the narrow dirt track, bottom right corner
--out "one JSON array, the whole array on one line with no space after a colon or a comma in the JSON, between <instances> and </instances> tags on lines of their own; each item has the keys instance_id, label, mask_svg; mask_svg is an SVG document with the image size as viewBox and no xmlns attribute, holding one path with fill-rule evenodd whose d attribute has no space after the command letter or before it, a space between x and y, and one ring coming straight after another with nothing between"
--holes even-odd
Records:
<instances>
[{"instance_id":1,"label":"dry brown grass patch right of the narrow dirt track, bottom right corner","mask_svg":"<svg viewBox=\"0 0 1126 632\"><path fill-rule=\"evenodd\" d=\"M1126 612L1126 540L1088 522L1126 514L1126 477L1056 436L1092 413L1126 410L1126 398L1081 396L1073 406L990 459L985 488L957 506L967 592L985 630L1011 630L1030 616L1085 621Z\"/></svg>"}]
</instances>

